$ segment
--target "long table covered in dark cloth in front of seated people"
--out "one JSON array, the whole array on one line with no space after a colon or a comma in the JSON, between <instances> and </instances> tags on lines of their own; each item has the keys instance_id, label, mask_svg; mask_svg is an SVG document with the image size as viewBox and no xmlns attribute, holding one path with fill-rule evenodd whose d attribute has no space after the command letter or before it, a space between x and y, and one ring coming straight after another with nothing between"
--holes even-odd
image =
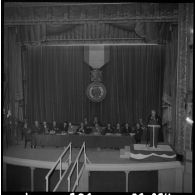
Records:
<instances>
[{"instance_id":1,"label":"long table covered in dark cloth in front of seated people","mask_svg":"<svg viewBox=\"0 0 195 195\"><path fill-rule=\"evenodd\" d=\"M85 142L88 148L124 148L135 143L131 136L115 135L34 135L37 146L67 146L79 148Z\"/></svg>"}]
</instances>

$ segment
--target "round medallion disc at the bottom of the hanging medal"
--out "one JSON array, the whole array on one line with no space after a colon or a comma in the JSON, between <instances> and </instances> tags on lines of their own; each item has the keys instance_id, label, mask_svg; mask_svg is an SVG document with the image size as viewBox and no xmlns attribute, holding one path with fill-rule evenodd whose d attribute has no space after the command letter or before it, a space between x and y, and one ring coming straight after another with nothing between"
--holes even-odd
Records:
<instances>
[{"instance_id":1,"label":"round medallion disc at the bottom of the hanging medal","mask_svg":"<svg viewBox=\"0 0 195 195\"><path fill-rule=\"evenodd\" d=\"M100 102L106 96L106 88L102 83L93 82L87 87L87 97L93 102Z\"/></svg>"}]
</instances>

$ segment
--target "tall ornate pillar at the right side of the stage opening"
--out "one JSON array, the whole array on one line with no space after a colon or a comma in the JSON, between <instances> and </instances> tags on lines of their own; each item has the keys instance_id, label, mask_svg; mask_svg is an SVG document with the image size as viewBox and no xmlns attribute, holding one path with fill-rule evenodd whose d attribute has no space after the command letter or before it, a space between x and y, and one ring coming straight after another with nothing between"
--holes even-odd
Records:
<instances>
[{"instance_id":1,"label":"tall ornate pillar at the right side of the stage opening","mask_svg":"<svg viewBox=\"0 0 195 195\"><path fill-rule=\"evenodd\" d=\"M190 34L192 26L193 3L179 3L178 21L178 59L177 59L177 90L176 90L176 132L175 148L177 153L184 154L184 131L186 124L186 103L188 95L188 77L190 56Z\"/></svg>"}]
</instances>

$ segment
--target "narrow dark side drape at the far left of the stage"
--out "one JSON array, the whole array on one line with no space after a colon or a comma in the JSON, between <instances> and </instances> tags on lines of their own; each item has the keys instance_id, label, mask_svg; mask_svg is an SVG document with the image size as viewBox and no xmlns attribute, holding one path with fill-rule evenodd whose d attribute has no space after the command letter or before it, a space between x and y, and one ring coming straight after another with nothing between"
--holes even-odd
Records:
<instances>
[{"instance_id":1,"label":"narrow dark side drape at the far left of the stage","mask_svg":"<svg viewBox=\"0 0 195 195\"><path fill-rule=\"evenodd\" d=\"M23 86L21 47L16 42L17 28L4 28L4 61L3 61L3 107L11 110L13 118L23 119Z\"/></svg>"}]
</instances>

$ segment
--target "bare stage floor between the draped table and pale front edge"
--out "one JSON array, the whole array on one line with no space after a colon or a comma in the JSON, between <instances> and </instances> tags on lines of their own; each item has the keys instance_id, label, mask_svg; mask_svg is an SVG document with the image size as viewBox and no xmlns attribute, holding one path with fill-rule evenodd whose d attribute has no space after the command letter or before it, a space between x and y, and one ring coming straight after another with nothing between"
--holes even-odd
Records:
<instances>
[{"instance_id":1,"label":"bare stage floor between the draped table and pale front edge","mask_svg":"<svg viewBox=\"0 0 195 195\"><path fill-rule=\"evenodd\" d=\"M23 142L18 145L12 145L8 148L4 147L3 156L12 157L18 159L37 160L55 162L60 154L63 152L63 147L37 147L37 148L24 148ZM79 148L72 148L72 160L76 158L79 152ZM86 148L86 154L91 163L95 164L129 164L129 163L142 163L139 160L123 159L120 158L119 149L94 149ZM157 162L163 162L164 160L158 160ZM151 161L148 161L151 162Z\"/></svg>"}]
</instances>

